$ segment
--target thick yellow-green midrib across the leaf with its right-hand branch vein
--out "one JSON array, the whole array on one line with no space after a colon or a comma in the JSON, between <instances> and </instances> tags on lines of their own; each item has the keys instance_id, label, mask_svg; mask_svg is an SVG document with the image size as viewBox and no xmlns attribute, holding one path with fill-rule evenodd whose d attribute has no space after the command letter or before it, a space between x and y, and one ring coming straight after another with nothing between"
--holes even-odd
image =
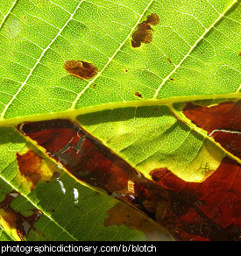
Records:
<instances>
[{"instance_id":1,"label":"thick yellow-green midrib across the leaf with its right-hand branch vein","mask_svg":"<svg viewBox=\"0 0 241 256\"><path fill-rule=\"evenodd\" d=\"M215 143L216 146L218 146L223 152L229 156L231 159L236 160L238 163L241 164L241 160L237 158L232 153L228 152L221 146L220 144L216 143L215 139L209 136L209 134L206 134L202 128L197 127L192 122L188 122L187 120L184 120L183 117L179 114L178 111L176 111L173 107L174 103L185 103L185 102L195 102L195 101L202 101L202 100L214 100L214 99L240 99L241 93L230 93L230 94L224 94L224 95L203 95L203 96L176 96L172 98L163 98L163 99L147 99L147 100L139 100L139 101L132 101L132 102L125 102L125 103L107 103L102 104L98 106L92 106L92 107L86 107L79 110L65 110L62 112L55 112L55 113L47 113L47 114L41 114L41 115L32 115L27 117L15 117L11 119L0 119L0 127L1 126L17 126L18 124L25 123L25 122L38 122L38 121L44 121L44 120L52 120L56 118L67 118L71 119L73 121L76 121L76 116L78 115L84 115L88 113L94 113L98 111L103 110L113 110L113 109L125 109L125 108L138 108L138 107L149 107L149 106L157 106L157 105L166 105L171 111L173 111L175 117L179 119L184 124L188 125L188 127L201 134L204 139L209 139L212 143ZM109 145L106 145L104 142L102 142L104 146L109 147ZM122 157L119 152L111 149L114 153L116 153L119 157ZM129 163L131 165L131 163ZM131 165L132 166L132 165Z\"/></svg>"}]
</instances>

